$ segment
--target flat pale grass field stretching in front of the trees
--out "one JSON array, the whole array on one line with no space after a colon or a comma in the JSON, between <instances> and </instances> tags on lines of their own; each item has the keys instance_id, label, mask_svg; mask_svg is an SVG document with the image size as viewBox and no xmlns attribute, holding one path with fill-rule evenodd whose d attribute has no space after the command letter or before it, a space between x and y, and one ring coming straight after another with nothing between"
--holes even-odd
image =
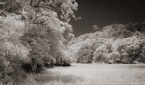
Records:
<instances>
[{"instance_id":1,"label":"flat pale grass field stretching in front of the trees","mask_svg":"<svg viewBox=\"0 0 145 85\"><path fill-rule=\"evenodd\" d=\"M48 69L39 79L49 80L40 85L145 85L145 65L72 64Z\"/></svg>"}]
</instances>

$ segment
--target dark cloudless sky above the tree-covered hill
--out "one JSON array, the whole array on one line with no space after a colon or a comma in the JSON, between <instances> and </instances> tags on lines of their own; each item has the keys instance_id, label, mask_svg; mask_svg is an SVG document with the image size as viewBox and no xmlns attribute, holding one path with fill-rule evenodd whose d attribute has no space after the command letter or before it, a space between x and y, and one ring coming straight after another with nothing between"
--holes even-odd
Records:
<instances>
[{"instance_id":1,"label":"dark cloudless sky above the tree-covered hill","mask_svg":"<svg viewBox=\"0 0 145 85\"><path fill-rule=\"evenodd\" d=\"M104 27L110 24L127 24L145 21L145 0L76 0L76 16L72 20L74 34L94 32L93 25Z\"/></svg>"}]
</instances>

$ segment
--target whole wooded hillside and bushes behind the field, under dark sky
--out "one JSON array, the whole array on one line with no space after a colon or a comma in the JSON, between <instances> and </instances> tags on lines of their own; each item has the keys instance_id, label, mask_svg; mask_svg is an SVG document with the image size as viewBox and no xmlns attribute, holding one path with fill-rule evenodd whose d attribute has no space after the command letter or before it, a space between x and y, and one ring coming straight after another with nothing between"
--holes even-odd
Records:
<instances>
[{"instance_id":1,"label":"whole wooded hillside and bushes behind the field, under dark sky","mask_svg":"<svg viewBox=\"0 0 145 85\"><path fill-rule=\"evenodd\" d=\"M69 51L77 63L144 63L145 23L113 24L70 42Z\"/></svg>"}]
</instances>

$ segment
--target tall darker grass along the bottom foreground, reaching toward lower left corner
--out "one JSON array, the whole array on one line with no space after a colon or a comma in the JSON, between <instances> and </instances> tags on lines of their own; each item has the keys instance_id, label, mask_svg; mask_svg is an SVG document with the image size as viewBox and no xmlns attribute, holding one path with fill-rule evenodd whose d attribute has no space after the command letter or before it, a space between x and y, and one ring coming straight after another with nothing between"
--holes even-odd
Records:
<instances>
[{"instance_id":1,"label":"tall darker grass along the bottom foreground, reaching toward lower left corner","mask_svg":"<svg viewBox=\"0 0 145 85\"><path fill-rule=\"evenodd\" d=\"M58 72L43 71L39 74L30 74L26 79L13 81L7 85L76 85L83 79L74 75L63 75ZM4 85L1 84L0 85Z\"/></svg>"}]
</instances>

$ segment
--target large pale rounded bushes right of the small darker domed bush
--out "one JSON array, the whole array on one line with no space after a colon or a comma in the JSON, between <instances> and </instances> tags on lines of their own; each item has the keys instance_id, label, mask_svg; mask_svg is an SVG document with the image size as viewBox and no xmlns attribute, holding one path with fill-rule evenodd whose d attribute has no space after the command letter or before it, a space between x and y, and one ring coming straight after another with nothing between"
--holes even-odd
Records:
<instances>
[{"instance_id":1,"label":"large pale rounded bushes right of the small darker domed bush","mask_svg":"<svg viewBox=\"0 0 145 85\"><path fill-rule=\"evenodd\" d=\"M130 37L112 40L100 45L93 57L93 62L105 63L135 63L142 61L142 45L144 40Z\"/></svg>"}]
</instances>

